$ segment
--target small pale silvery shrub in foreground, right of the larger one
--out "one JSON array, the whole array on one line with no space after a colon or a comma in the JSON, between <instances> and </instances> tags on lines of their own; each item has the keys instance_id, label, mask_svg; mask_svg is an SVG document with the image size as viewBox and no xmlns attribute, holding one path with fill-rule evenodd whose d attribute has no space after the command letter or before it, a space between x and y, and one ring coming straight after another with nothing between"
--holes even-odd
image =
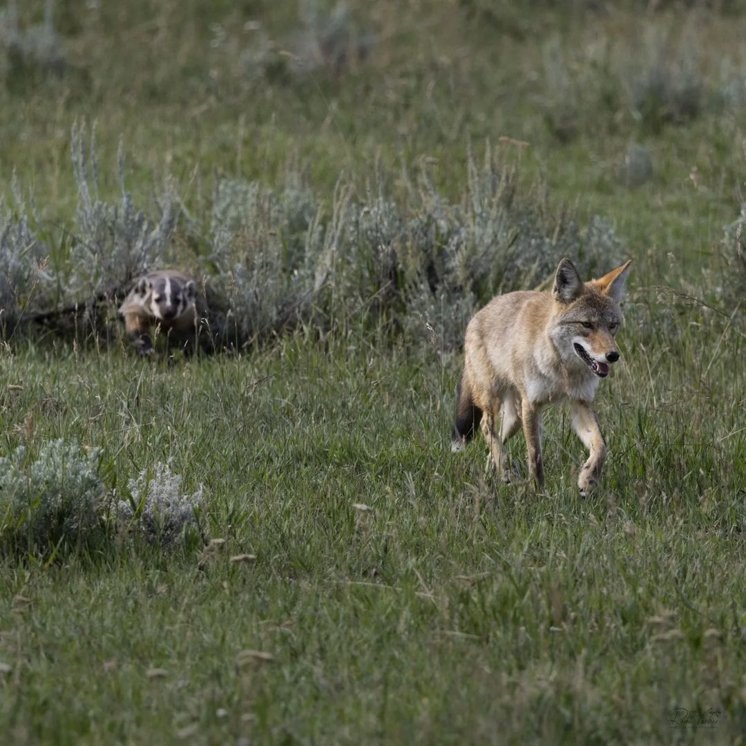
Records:
<instances>
[{"instance_id":1,"label":"small pale silvery shrub in foreground, right of the larger one","mask_svg":"<svg viewBox=\"0 0 746 746\"><path fill-rule=\"evenodd\" d=\"M181 489L183 477L171 471L170 463L159 462L152 474L143 469L128 482L130 500L120 500L116 512L120 523L134 536L165 549L173 549L187 534L200 532L198 510L204 489L188 494Z\"/></svg>"}]
</instances>

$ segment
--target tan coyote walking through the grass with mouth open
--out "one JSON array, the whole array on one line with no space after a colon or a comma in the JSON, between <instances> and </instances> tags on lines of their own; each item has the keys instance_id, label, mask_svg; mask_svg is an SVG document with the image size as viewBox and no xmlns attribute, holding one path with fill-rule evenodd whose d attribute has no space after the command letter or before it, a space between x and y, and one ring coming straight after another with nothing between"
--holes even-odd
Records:
<instances>
[{"instance_id":1,"label":"tan coyote walking through the grass with mouth open","mask_svg":"<svg viewBox=\"0 0 746 746\"><path fill-rule=\"evenodd\" d=\"M466 447L481 422L495 466L510 482L505 444L522 424L529 477L542 487L542 408L567 398L574 430L589 450L577 486L581 495L589 494L606 458L593 398L609 363L619 359L614 335L630 263L583 283L563 259L551 292L509 292L477 312L466 327L454 451Z\"/></svg>"}]
</instances>

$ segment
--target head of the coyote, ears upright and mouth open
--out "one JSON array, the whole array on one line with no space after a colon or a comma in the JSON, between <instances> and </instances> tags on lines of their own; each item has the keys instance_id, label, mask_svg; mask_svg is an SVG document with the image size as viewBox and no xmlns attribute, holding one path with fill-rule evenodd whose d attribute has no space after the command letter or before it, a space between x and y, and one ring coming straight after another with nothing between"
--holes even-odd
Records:
<instances>
[{"instance_id":1,"label":"head of the coyote, ears upright and mouth open","mask_svg":"<svg viewBox=\"0 0 746 746\"><path fill-rule=\"evenodd\" d=\"M619 303L631 263L584 283L569 259L560 262L552 288L555 313L549 336L566 365L587 366L604 378L609 363L619 359L614 336L621 325Z\"/></svg>"}]
</instances>

